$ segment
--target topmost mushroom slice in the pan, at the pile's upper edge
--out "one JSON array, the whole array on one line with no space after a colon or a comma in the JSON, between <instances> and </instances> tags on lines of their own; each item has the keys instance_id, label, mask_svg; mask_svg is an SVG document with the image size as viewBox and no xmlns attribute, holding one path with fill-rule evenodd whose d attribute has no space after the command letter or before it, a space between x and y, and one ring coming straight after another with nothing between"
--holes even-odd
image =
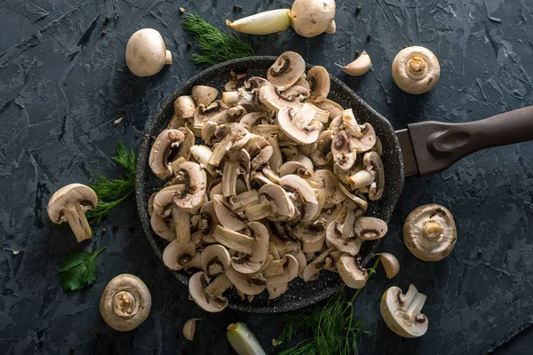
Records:
<instances>
[{"instance_id":1,"label":"topmost mushroom slice in the pan, at the pile's upper edge","mask_svg":"<svg viewBox=\"0 0 533 355\"><path fill-rule=\"evenodd\" d=\"M297 52L285 51L267 71L268 82L280 91L296 83L306 71L306 61Z\"/></svg>"}]
</instances>

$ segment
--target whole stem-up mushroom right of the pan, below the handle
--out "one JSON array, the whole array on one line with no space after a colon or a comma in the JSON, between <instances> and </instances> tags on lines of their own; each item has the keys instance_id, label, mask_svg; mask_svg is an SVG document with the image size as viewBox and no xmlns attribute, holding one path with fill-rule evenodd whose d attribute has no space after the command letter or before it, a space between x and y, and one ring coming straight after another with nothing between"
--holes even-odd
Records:
<instances>
[{"instance_id":1,"label":"whole stem-up mushroom right of the pan, below the handle","mask_svg":"<svg viewBox=\"0 0 533 355\"><path fill-rule=\"evenodd\" d=\"M403 241L421 260L439 261L448 256L457 241L457 229L451 212L429 204L414 209L403 225Z\"/></svg>"}]
</instances>

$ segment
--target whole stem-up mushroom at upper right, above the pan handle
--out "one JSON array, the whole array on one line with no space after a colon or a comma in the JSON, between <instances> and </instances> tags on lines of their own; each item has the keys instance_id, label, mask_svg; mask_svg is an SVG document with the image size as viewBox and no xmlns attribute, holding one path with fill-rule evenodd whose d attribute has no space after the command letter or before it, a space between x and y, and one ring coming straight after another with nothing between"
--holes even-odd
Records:
<instances>
[{"instance_id":1,"label":"whole stem-up mushroom at upper right, above the pan handle","mask_svg":"<svg viewBox=\"0 0 533 355\"><path fill-rule=\"evenodd\" d=\"M422 94L435 86L439 76L439 60L425 47L404 48L394 58L393 79L402 91Z\"/></svg>"}]
</instances>

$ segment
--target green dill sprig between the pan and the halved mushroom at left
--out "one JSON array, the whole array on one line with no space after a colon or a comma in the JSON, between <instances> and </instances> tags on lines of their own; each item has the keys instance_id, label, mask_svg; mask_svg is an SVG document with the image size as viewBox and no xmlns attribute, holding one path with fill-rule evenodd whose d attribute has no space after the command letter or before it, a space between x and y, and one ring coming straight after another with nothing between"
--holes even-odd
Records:
<instances>
[{"instance_id":1,"label":"green dill sprig between the pan and the halved mushroom at left","mask_svg":"<svg viewBox=\"0 0 533 355\"><path fill-rule=\"evenodd\" d=\"M87 212L87 220L91 225L99 224L112 209L115 209L135 191L135 153L126 149L123 142L119 141L116 146L116 155L111 159L118 162L126 170L126 174L112 179L97 174L96 184L91 185L91 188L98 196L98 206Z\"/></svg>"}]
</instances>

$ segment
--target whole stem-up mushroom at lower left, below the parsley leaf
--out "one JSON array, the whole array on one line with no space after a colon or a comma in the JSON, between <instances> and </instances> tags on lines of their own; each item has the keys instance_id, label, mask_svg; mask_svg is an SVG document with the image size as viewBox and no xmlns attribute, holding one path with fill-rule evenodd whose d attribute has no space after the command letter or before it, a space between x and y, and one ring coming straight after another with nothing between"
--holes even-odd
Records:
<instances>
[{"instance_id":1,"label":"whole stem-up mushroom at lower left, below the parsley leaf","mask_svg":"<svg viewBox=\"0 0 533 355\"><path fill-rule=\"evenodd\" d=\"M137 276L123 273L109 281L100 298L100 314L107 326L126 332L145 321L152 307L147 285Z\"/></svg>"}]
</instances>

